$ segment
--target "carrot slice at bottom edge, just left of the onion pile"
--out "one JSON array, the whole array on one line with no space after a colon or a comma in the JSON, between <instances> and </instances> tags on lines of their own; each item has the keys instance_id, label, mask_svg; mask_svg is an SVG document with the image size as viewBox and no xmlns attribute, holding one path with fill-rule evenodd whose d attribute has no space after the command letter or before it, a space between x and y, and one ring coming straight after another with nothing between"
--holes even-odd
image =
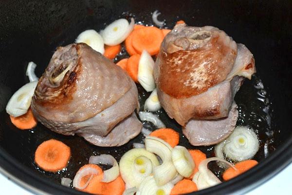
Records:
<instances>
[{"instance_id":1,"label":"carrot slice at bottom edge, just left of the onion pile","mask_svg":"<svg viewBox=\"0 0 292 195\"><path fill-rule=\"evenodd\" d=\"M84 191L94 195L123 195L125 183L121 176L109 183L101 182L101 179L100 176L94 176Z\"/></svg>"}]
</instances>

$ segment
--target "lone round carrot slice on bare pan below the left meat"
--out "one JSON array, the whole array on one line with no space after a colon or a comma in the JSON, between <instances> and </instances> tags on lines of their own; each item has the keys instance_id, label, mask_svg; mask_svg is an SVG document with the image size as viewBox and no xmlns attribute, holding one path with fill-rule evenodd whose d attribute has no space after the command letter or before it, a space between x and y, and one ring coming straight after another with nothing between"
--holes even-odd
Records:
<instances>
[{"instance_id":1,"label":"lone round carrot slice on bare pan below the left meat","mask_svg":"<svg viewBox=\"0 0 292 195\"><path fill-rule=\"evenodd\" d=\"M67 166L70 156L71 151L66 144L50 139L37 147L35 161L43 170L57 172Z\"/></svg>"}]
</instances>

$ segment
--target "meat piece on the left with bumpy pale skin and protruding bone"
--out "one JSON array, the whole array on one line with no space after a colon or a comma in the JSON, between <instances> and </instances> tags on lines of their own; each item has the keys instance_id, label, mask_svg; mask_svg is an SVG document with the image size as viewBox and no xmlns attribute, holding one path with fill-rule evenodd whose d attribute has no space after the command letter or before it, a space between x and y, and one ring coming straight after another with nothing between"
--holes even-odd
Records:
<instances>
[{"instance_id":1,"label":"meat piece on the left with bumpy pale skin and protruding bone","mask_svg":"<svg viewBox=\"0 0 292 195\"><path fill-rule=\"evenodd\" d=\"M51 130L97 146L120 146L142 129L138 91L127 73L87 44L58 47L31 104Z\"/></svg>"}]
</instances>

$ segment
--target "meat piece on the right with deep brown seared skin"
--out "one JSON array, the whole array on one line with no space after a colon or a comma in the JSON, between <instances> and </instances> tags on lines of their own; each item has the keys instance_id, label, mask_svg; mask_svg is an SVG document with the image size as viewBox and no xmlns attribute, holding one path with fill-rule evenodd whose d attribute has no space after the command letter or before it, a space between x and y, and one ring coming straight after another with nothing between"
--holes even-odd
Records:
<instances>
[{"instance_id":1,"label":"meat piece on the right with deep brown seared skin","mask_svg":"<svg viewBox=\"0 0 292 195\"><path fill-rule=\"evenodd\" d=\"M192 145L212 145L235 128L234 97L256 72L252 53L212 26L178 24L167 34L155 63L158 98L183 126Z\"/></svg>"}]
</instances>

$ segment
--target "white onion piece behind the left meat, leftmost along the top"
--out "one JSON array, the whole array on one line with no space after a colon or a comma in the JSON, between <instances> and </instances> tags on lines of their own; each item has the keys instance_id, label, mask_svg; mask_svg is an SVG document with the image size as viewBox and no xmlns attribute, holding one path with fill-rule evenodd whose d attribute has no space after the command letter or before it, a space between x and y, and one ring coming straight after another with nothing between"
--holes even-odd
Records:
<instances>
[{"instance_id":1,"label":"white onion piece behind the left meat, leftmost along the top","mask_svg":"<svg viewBox=\"0 0 292 195\"><path fill-rule=\"evenodd\" d=\"M89 46L91 46L92 49L95 51L104 54L105 48L104 48L104 40L102 37L95 31L95 30L86 30L80 33L75 40L76 43L86 43Z\"/></svg>"}]
</instances>

